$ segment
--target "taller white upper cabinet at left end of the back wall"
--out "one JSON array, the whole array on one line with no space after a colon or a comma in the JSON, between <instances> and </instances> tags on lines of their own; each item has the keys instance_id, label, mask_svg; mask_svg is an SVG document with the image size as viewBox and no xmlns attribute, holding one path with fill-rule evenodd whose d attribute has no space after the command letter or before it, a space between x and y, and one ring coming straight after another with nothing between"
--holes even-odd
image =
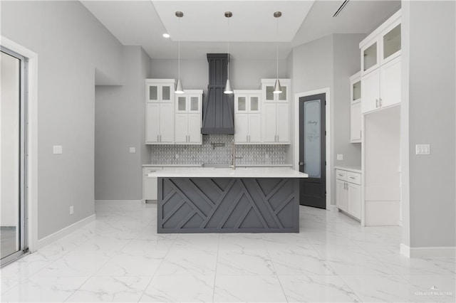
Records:
<instances>
[{"instance_id":1,"label":"taller white upper cabinet at left end of the back wall","mask_svg":"<svg viewBox=\"0 0 456 303\"><path fill-rule=\"evenodd\" d=\"M174 143L174 79L146 79L146 144Z\"/></svg>"}]
</instances>

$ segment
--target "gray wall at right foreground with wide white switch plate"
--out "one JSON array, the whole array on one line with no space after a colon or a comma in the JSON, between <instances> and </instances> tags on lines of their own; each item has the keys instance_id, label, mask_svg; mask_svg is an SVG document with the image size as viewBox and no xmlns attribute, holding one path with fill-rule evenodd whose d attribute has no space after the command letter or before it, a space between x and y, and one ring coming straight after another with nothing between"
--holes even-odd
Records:
<instances>
[{"instance_id":1,"label":"gray wall at right foreground with wide white switch plate","mask_svg":"<svg viewBox=\"0 0 456 303\"><path fill-rule=\"evenodd\" d=\"M403 115L408 119L410 178L410 188L403 188L410 195L403 208L404 223L410 224L404 228L403 243L454 248L455 2L403 1L403 16L403 77L409 83L403 92L408 97L403 111L408 112ZM431 154L416 156L415 144L423 143L431 144Z\"/></svg>"}]
</instances>

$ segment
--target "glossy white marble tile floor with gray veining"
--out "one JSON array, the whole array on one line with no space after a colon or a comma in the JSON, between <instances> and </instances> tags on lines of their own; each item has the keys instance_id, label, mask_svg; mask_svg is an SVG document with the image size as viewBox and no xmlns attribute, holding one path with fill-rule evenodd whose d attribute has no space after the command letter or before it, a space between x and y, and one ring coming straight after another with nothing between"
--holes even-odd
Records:
<instances>
[{"instance_id":1,"label":"glossy white marble tile floor with gray veining","mask_svg":"<svg viewBox=\"0 0 456 303\"><path fill-rule=\"evenodd\" d=\"M408 259L400 228L300 207L300 233L157 234L156 205L97 220L0 270L1 302L455 302L455 258Z\"/></svg>"}]
</instances>

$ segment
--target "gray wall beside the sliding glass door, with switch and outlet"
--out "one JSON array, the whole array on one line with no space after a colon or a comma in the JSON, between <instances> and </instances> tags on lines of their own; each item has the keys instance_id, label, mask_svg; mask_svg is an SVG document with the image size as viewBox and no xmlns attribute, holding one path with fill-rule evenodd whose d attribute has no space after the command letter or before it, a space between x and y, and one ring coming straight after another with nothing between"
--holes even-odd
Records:
<instances>
[{"instance_id":1,"label":"gray wall beside the sliding glass door, with switch and outlet","mask_svg":"<svg viewBox=\"0 0 456 303\"><path fill-rule=\"evenodd\" d=\"M106 83L120 83L123 48L78 1L2 1L1 35L38 53L43 238L94 213L95 69ZM52 154L54 144L63 154Z\"/></svg>"}]
</instances>

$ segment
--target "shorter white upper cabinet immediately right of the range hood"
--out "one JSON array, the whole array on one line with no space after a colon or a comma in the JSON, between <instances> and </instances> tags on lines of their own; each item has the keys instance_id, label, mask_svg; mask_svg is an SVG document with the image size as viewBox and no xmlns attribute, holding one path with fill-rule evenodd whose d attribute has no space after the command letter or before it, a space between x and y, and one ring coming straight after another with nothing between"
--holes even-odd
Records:
<instances>
[{"instance_id":1,"label":"shorter white upper cabinet immediately right of the range hood","mask_svg":"<svg viewBox=\"0 0 456 303\"><path fill-rule=\"evenodd\" d=\"M234 90L234 142L261 143L261 90Z\"/></svg>"}]
</instances>

